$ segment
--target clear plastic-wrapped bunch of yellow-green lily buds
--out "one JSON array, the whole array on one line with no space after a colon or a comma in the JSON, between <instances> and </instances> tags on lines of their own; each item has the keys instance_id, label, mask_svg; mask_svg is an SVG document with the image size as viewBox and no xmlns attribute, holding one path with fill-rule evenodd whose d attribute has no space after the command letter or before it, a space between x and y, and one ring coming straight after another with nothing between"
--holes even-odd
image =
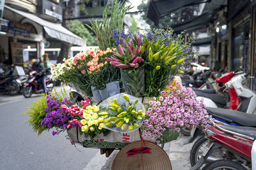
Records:
<instances>
[{"instance_id":1,"label":"clear plastic-wrapped bunch of yellow-green lily buds","mask_svg":"<svg viewBox=\"0 0 256 170\"><path fill-rule=\"evenodd\" d=\"M129 94L116 94L99 104L107 118L104 128L114 132L132 132L140 128L145 117L145 107L137 97Z\"/></svg>"}]
</instances>

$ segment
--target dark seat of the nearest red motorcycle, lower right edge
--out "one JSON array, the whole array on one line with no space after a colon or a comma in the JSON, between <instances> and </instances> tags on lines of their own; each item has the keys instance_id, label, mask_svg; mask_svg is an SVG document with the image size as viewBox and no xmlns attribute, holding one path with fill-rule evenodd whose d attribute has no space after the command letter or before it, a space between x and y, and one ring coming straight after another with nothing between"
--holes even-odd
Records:
<instances>
[{"instance_id":1,"label":"dark seat of the nearest red motorcycle, lower right edge","mask_svg":"<svg viewBox=\"0 0 256 170\"><path fill-rule=\"evenodd\" d=\"M244 134L245 136L250 136L253 140L256 139L256 128L246 127L246 126L232 126L232 125L219 125L225 130L236 132L238 134Z\"/></svg>"}]
</instances>

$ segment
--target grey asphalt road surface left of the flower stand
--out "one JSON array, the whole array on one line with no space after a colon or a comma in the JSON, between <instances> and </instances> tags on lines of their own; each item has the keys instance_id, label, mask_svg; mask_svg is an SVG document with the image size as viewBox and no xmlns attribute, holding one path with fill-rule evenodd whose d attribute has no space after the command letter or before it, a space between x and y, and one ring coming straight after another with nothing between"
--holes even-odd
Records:
<instances>
[{"instance_id":1,"label":"grey asphalt road surface left of the flower stand","mask_svg":"<svg viewBox=\"0 0 256 170\"><path fill-rule=\"evenodd\" d=\"M0 104L0 169L86 169L99 150L70 144L66 132L37 136L20 114L40 97ZM102 155L103 156L103 155Z\"/></svg>"}]
</instances>

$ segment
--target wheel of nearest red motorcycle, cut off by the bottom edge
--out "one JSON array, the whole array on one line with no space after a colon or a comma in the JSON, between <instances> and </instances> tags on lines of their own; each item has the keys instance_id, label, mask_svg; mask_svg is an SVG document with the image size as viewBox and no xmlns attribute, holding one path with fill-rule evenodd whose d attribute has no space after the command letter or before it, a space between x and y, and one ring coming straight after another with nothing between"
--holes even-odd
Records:
<instances>
[{"instance_id":1,"label":"wheel of nearest red motorcycle, cut off by the bottom edge","mask_svg":"<svg viewBox=\"0 0 256 170\"><path fill-rule=\"evenodd\" d=\"M202 170L217 170L217 169L232 169L232 170L246 170L241 164L229 159L221 159L207 164Z\"/></svg>"}]
</instances>

